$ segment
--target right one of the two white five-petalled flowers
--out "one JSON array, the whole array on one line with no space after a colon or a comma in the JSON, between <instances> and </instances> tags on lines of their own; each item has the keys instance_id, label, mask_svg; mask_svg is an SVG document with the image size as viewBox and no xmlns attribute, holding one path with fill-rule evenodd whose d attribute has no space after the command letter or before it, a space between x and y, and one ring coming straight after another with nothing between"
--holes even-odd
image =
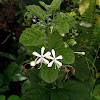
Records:
<instances>
[{"instance_id":1,"label":"right one of the two white five-petalled flowers","mask_svg":"<svg viewBox=\"0 0 100 100\"><path fill-rule=\"evenodd\" d=\"M55 57L55 50L52 49L52 55L53 57L51 56L47 56L46 58L48 59L52 59L52 61L48 64L48 67L51 67L52 64L54 63L55 64L55 69L56 69L56 65L58 67L58 69L60 68L60 66L62 66L62 63L60 61L58 61L57 59L62 59L62 55L58 56L58 57Z\"/></svg>"}]
</instances>

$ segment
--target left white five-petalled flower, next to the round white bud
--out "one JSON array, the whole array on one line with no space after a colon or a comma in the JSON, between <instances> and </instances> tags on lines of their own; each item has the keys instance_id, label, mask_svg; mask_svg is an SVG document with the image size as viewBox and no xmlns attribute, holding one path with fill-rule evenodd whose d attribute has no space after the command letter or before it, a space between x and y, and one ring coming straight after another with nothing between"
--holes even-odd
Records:
<instances>
[{"instance_id":1,"label":"left white five-petalled flower, next to the round white bud","mask_svg":"<svg viewBox=\"0 0 100 100\"><path fill-rule=\"evenodd\" d=\"M36 60L36 64L39 64L39 63L46 63L46 64L48 64L49 63L49 61L47 60L47 59L45 59L44 57L47 57L47 56L50 56L51 55L51 53L48 51L47 53L45 53L44 55L43 55L43 53L44 53L44 50L45 50L45 48L44 47L42 47L41 48L41 55L39 54L39 53L37 53L37 52L33 52L32 54L33 55L35 55L35 56L37 56L37 60ZM39 58L39 59L38 59Z\"/></svg>"}]
</instances>

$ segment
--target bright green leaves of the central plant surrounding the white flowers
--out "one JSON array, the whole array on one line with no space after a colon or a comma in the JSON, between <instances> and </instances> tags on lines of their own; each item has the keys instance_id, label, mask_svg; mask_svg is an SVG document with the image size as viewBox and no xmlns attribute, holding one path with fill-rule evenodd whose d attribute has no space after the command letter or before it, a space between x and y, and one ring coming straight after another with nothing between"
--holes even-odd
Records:
<instances>
[{"instance_id":1,"label":"bright green leaves of the central plant surrounding the white flowers","mask_svg":"<svg viewBox=\"0 0 100 100\"><path fill-rule=\"evenodd\" d=\"M32 51L39 51L38 49L40 49L41 46L45 46L46 49L50 51L51 49L55 49L56 56L63 56L61 61L64 64L72 64L75 60L74 52L72 49L64 47L63 37L60 34L68 33L69 29L75 24L75 20L68 13L56 13L61 2L62 0L53 0L51 5L46 5L44 2L40 2L47 12L36 5L27 6L30 15L35 14L43 21L33 24L32 28L24 30L20 37L20 42L26 46L31 53ZM33 70L29 75L31 83L36 84L40 82L37 73ZM53 83L58 78L58 68L55 69L54 65L51 68L48 68L47 65L42 64L40 77L47 83Z\"/></svg>"}]
</instances>

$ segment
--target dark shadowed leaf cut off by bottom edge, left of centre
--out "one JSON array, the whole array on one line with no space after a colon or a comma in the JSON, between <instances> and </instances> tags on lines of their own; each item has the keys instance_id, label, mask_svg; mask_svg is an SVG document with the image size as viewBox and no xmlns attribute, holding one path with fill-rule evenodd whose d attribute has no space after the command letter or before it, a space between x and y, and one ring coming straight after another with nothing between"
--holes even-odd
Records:
<instances>
[{"instance_id":1,"label":"dark shadowed leaf cut off by bottom edge, left of centre","mask_svg":"<svg viewBox=\"0 0 100 100\"><path fill-rule=\"evenodd\" d=\"M35 85L24 93L22 100L49 100L49 92Z\"/></svg>"}]
</instances>

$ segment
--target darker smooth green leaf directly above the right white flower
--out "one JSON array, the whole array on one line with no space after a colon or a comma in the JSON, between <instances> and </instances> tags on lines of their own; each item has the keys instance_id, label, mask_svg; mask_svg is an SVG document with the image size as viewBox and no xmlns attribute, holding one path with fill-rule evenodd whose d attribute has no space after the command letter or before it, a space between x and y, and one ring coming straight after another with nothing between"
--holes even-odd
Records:
<instances>
[{"instance_id":1,"label":"darker smooth green leaf directly above the right white flower","mask_svg":"<svg viewBox=\"0 0 100 100\"><path fill-rule=\"evenodd\" d=\"M49 35L49 38L48 38L49 50L51 50L52 48L57 48L61 46L62 44L63 44L63 38L57 31Z\"/></svg>"}]
</instances>

